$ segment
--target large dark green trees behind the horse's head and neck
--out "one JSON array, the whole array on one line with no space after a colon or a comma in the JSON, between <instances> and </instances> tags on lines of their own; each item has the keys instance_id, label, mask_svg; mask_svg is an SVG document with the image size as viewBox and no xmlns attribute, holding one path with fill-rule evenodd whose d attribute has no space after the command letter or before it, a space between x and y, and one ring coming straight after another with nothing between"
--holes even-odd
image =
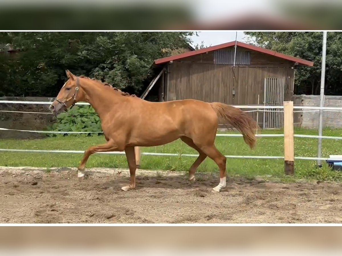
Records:
<instances>
[{"instance_id":1,"label":"large dark green trees behind the horse's head and neck","mask_svg":"<svg viewBox=\"0 0 342 256\"><path fill-rule=\"evenodd\" d=\"M0 96L53 96L65 70L139 94L153 75L152 63L186 47L193 32L0 32ZM162 50L163 49L163 50ZM167 49L167 50L165 50Z\"/></svg>"}]
</instances>

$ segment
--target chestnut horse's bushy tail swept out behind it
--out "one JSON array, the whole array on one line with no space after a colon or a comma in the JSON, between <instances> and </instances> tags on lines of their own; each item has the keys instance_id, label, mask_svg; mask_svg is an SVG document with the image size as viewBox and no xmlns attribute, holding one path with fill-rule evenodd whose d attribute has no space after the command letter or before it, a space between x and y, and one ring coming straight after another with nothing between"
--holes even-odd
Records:
<instances>
[{"instance_id":1,"label":"chestnut horse's bushy tail swept out behind it","mask_svg":"<svg viewBox=\"0 0 342 256\"><path fill-rule=\"evenodd\" d=\"M219 124L230 124L242 133L245 142L254 148L257 140L255 132L258 123L246 112L220 102L210 103L219 118Z\"/></svg>"}]
</instances>

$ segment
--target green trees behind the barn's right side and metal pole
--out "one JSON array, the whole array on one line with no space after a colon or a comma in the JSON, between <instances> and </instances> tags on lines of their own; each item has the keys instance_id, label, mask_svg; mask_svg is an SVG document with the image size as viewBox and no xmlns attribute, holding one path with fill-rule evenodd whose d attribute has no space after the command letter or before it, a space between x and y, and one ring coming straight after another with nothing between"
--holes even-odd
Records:
<instances>
[{"instance_id":1,"label":"green trees behind the barn's right side and metal pole","mask_svg":"<svg viewBox=\"0 0 342 256\"><path fill-rule=\"evenodd\" d=\"M319 94L322 32L245 32L258 46L314 62L313 67L295 70L295 94ZM328 32L326 57L326 95L342 95L342 33Z\"/></svg>"}]
</instances>

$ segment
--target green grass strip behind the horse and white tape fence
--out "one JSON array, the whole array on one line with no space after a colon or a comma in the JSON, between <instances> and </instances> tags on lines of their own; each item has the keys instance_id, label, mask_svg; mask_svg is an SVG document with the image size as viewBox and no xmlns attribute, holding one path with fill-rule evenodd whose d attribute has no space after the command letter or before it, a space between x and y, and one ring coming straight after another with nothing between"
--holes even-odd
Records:
<instances>
[{"instance_id":1,"label":"green grass strip behind the horse and white tape fence","mask_svg":"<svg viewBox=\"0 0 342 256\"><path fill-rule=\"evenodd\" d=\"M230 132L238 133L238 132ZM283 133L282 130L263 130L262 133ZM317 135L317 130L295 129L295 134ZM326 128L325 136L341 136L341 129ZM0 148L32 149L32 150L86 150L89 146L104 143L103 136L84 137L67 136L35 140L0 139ZM255 150L250 150L242 137L216 137L216 147L224 155L284 155L283 137L259 137ZM317 156L317 139L295 138L295 156ZM342 141L323 139L322 156L342 154ZM181 140L157 146L143 147L142 152L197 154L195 150L184 144ZM26 152L0 152L0 166L31 166L31 167L77 167L82 154L68 153L26 153ZM187 171L194 162L195 157L177 156L147 156L141 157L141 169L150 170L176 170ZM125 155L92 155L86 167L127 168ZM207 158L198 168L198 171L218 172L218 167ZM227 159L227 173L231 176L268 176L291 180L284 175L283 159ZM295 161L295 178L314 180L342 181L341 172L332 171L326 163L316 169L316 162L312 160Z\"/></svg>"}]
</instances>

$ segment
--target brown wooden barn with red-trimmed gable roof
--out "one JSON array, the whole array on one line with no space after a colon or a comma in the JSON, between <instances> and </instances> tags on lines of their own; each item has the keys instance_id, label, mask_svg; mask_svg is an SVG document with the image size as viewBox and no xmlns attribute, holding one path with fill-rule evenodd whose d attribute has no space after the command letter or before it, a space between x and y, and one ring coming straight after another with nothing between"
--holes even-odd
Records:
<instances>
[{"instance_id":1,"label":"brown wooden barn with red-trimmed gable roof","mask_svg":"<svg viewBox=\"0 0 342 256\"><path fill-rule=\"evenodd\" d=\"M235 50L236 46L236 50ZM242 42L228 42L154 62L159 101L198 99L230 105L283 105L292 99L294 71L313 62ZM251 113L257 119L257 112ZM263 128L280 128L282 113L259 112Z\"/></svg>"}]
</instances>

